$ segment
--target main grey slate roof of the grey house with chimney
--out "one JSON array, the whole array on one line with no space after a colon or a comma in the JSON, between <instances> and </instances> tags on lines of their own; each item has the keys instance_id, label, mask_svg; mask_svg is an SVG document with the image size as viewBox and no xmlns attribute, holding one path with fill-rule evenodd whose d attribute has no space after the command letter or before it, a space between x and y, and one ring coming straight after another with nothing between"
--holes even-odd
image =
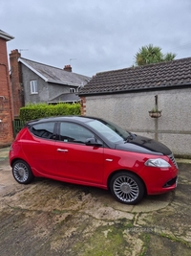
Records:
<instances>
[{"instance_id":1,"label":"main grey slate roof of the grey house with chimney","mask_svg":"<svg viewBox=\"0 0 191 256\"><path fill-rule=\"evenodd\" d=\"M43 63L35 62L27 58L19 58L21 63L30 68L44 81L61 83L65 85L83 86L91 78L73 72L65 71L61 68L53 67Z\"/></svg>"}]
</instances>

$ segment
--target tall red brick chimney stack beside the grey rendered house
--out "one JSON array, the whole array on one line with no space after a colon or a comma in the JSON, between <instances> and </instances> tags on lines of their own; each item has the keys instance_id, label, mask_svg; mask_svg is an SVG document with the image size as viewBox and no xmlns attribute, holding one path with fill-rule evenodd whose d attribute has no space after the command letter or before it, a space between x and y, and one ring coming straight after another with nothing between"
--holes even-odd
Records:
<instances>
[{"instance_id":1,"label":"tall red brick chimney stack beside the grey rendered house","mask_svg":"<svg viewBox=\"0 0 191 256\"><path fill-rule=\"evenodd\" d=\"M11 90L13 98L14 117L19 116L20 107L24 106L24 91L21 74L21 63L18 62L18 58L21 54L17 49L12 50L10 54L11 65Z\"/></svg>"}]
</instances>

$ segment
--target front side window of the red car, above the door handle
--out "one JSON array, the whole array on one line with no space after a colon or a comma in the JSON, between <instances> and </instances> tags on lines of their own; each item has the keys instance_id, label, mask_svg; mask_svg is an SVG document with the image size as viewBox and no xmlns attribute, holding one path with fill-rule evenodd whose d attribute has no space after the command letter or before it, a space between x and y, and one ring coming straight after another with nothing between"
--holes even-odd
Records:
<instances>
[{"instance_id":1,"label":"front side window of the red car, above the door handle","mask_svg":"<svg viewBox=\"0 0 191 256\"><path fill-rule=\"evenodd\" d=\"M63 142L84 144L87 139L94 137L93 132L80 125L69 122L60 123L60 140Z\"/></svg>"}]
</instances>

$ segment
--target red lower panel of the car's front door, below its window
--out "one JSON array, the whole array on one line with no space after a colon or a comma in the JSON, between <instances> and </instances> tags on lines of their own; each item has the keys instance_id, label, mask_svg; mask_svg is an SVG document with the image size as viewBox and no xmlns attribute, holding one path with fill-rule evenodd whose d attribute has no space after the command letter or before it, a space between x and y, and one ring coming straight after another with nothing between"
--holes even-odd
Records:
<instances>
[{"instance_id":1,"label":"red lower panel of the car's front door, below its window","mask_svg":"<svg viewBox=\"0 0 191 256\"><path fill-rule=\"evenodd\" d=\"M97 184L103 182L103 148L59 141L55 142L55 147L60 177Z\"/></svg>"}]
</instances>

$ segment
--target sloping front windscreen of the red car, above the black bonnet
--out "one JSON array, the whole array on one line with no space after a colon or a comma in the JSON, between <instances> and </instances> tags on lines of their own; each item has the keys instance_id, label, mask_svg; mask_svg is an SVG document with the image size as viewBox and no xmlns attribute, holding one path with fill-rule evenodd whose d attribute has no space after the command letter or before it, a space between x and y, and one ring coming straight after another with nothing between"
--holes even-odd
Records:
<instances>
[{"instance_id":1,"label":"sloping front windscreen of the red car, above the black bonnet","mask_svg":"<svg viewBox=\"0 0 191 256\"><path fill-rule=\"evenodd\" d=\"M126 140L130 136L130 133L123 128L118 127L117 125L106 122L103 120L91 120L86 123L91 128L94 128L96 131L101 133L106 139L111 142L117 143L121 140Z\"/></svg>"}]
</instances>

